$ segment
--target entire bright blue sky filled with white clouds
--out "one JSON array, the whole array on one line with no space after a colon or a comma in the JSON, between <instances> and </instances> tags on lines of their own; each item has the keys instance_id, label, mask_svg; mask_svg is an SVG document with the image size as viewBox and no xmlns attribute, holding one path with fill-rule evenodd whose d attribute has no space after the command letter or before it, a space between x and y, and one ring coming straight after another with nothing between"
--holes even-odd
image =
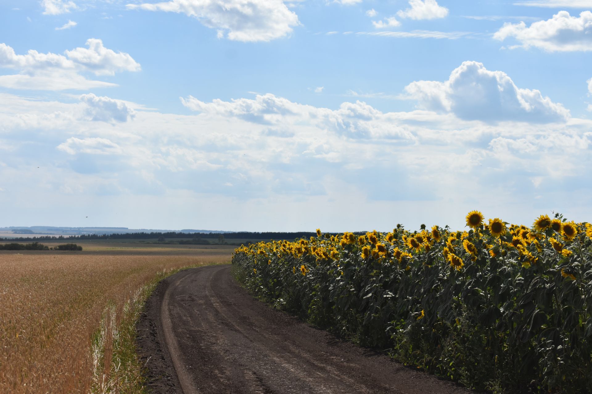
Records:
<instances>
[{"instance_id":1,"label":"entire bright blue sky filled with white clouds","mask_svg":"<svg viewBox=\"0 0 592 394\"><path fill-rule=\"evenodd\" d=\"M0 226L592 221L592 0L2 0Z\"/></svg>"}]
</instances>

